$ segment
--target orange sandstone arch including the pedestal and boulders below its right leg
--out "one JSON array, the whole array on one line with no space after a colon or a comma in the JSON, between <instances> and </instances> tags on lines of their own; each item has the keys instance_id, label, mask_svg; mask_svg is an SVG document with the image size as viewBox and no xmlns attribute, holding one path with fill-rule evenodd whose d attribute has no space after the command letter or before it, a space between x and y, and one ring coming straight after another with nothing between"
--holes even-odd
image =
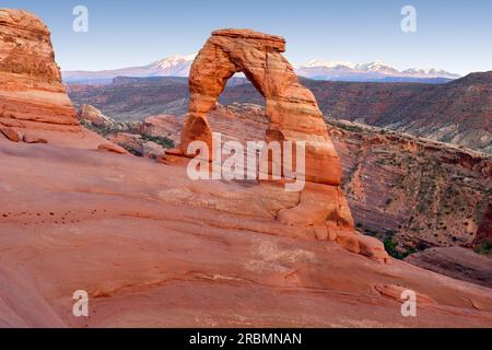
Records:
<instances>
[{"instance_id":1,"label":"orange sandstone arch including the pedestal and boulders below its right leg","mask_svg":"<svg viewBox=\"0 0 492 350\"><path fill-rule=\"evenodd\" d=\"M265 97L268 128L266 141L305 142L305 178L307 185L296 206L279 211L277 219L285 225L303 225L324 240L349 244L354 253L378 260L387 254L376 240L355 235L353 220L340 189L341 164L328 136L327 126L313 93L298 83L297 77L281 55L285 40L250 30L221 30L212 33L195 59L189 75L189 110L185 120L180 152L187 154L192 141L203 141L212 150L212 129L207 115L216 107L227 80L243 72ZM250 141L260 141L256 136ZM195 154L187 154L195 155ZM359 242L368 242L361 249ZM350 243L348 243L350 242Z\"/></svg>"}]
</instances>

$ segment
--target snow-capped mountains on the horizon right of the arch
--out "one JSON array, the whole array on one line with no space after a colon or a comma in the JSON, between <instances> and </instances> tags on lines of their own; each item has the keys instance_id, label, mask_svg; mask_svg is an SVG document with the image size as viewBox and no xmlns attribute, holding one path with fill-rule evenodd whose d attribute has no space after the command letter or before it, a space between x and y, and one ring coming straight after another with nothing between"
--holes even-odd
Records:
<instances>
[{"instance_id":1,"label":"snow-capped mountains on the horizon right of the arch","mask_svg":"<svg viewBox=\"0 0 492 350\"><path fill-rule=\"evenodd\" d=\"M338 81L445 81L460 78L440 69L411 68L399 71L382 61L353 63L349 61L312 60L296 67L298 75L317 80Z\"/></svg>"}]
</instances>

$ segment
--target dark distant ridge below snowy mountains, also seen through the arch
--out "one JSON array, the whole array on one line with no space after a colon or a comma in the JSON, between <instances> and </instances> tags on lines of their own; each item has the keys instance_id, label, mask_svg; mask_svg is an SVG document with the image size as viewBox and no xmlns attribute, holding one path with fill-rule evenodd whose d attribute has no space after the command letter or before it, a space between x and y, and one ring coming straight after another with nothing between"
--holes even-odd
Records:
<instances>
[{"instance_id":1,"label":"dark distant ridge below snowy mountains, also seen through the arch","mask_svg":"<svg viewBox=\"0 0 492 350\"><path fill-rule=\"evenodd\" d=\"M243 83L241 83L241 81ZM384 127L453 143L484 153L492 151L492 72L472 73L445 84L360 83L305 78L326 117ZM186 113L185 78L116 78L112 84L69 84L75 106L93 105L118 120ZM246 80L236 78L219 102L253 103L265 98Z\"/></svg>"}]
</instances>

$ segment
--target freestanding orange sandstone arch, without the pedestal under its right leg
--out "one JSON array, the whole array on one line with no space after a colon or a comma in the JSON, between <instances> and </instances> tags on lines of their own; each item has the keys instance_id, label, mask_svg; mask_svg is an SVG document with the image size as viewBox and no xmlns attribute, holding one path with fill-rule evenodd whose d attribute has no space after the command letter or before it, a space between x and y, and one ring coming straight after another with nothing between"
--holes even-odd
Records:
<instances>
[{"instance_id":1,"label":"freestanding orange sandstone arch, without the pedestal under its right leg","mask_svg":"<svg viewBox=\"0 0 492 350\"><path fill-rule=\"evenodd\" d=\"M207 113L215 106L227 80L243 72L263 95L270 120L267 140L306 142L306 180L338 186L340 160L313 93L298 83L292 66L281 55L285 39L250 30L212 33L191 66L190 103L180 151L189 142L211 147L212 131Z\"/></svg>"}]
</instances>

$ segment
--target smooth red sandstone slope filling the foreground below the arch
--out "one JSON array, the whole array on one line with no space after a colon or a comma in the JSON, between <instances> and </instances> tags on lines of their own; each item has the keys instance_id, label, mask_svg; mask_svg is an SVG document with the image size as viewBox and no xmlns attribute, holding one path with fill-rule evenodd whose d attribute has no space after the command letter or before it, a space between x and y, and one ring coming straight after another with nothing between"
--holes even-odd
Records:
<instances>
[{"instance_id":1,"label":"smooth red sandstone slope filling the foreground below the arch","mask_svg":"<svg viewBox=\"0 0 492 350\"><path fill-rule=\"evenodd\" d=\"M488 288L282 224L276 213L297 202L283 186L197 183L178 164L1 138L0 158L0 327L492 323ZM72 314L81 289L90 317ZM401 316L403 289L418 317Z\"/></svg>"}]
</instances>

